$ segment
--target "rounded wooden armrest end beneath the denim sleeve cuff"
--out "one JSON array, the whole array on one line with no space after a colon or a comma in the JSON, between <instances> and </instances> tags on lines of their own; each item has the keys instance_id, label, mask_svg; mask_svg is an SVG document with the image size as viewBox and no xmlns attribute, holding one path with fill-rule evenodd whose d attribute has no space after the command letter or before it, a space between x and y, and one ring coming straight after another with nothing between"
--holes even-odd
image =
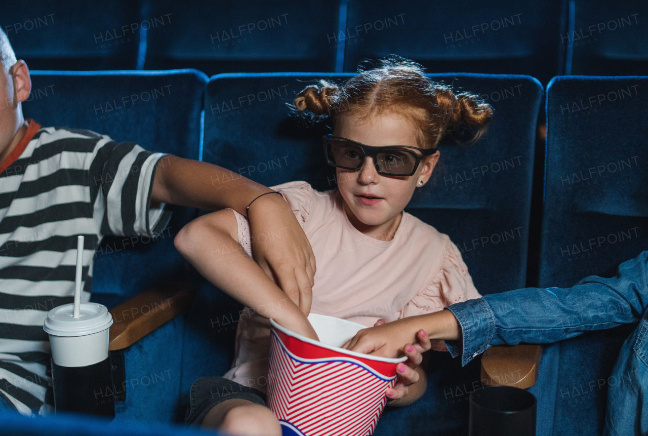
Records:
<instances>
[{"instance_id":1,"label":"rounded wooden armrest end beneath the denim sleeve cuff","mask_svg":"<svg viewBox=\"0 0 648 436\"><path fill-rule=\"evenodd\" d=\"M540 345L500 345L481 358L481 380L490 386L531 387L538 380Z\"/></svg>"}]
</instances>

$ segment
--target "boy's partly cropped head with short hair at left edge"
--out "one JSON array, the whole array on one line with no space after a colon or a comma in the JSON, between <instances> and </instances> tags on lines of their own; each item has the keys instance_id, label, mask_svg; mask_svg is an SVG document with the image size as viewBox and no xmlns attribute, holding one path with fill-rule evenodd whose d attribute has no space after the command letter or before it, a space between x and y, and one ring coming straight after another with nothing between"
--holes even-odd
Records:
<instances>
[{"instance_id":1,"label":"boy's partly cropped head with short hair at left edge","mask_svg":"<svg viewBox=\"0 0 648 436\"><path fill-rule=\"evenodd\" d=\"M5 32L0 29L0 163L25 134L21 102L32 89L27 64L16 60Z\"/></svg>"}]
</instances>

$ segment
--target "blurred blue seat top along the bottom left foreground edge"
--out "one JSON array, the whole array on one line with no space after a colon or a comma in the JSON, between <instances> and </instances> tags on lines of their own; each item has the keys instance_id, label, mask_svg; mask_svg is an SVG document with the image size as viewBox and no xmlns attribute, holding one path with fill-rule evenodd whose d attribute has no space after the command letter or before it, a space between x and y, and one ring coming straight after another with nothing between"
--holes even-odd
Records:
<instances>
[{"instance_id":1,"label":"blurred blue seat top along the bottom left foreground edge","mask_svg":"<svg viewBox=\"0 0 648 436\"><path fill-rule=\"evenodd\" d=\"M187 426L108 422L104 419L57 413L47 418L23 417L18 413L0 412L3 436L218 436Z\"/></svg>"}]
</instances>

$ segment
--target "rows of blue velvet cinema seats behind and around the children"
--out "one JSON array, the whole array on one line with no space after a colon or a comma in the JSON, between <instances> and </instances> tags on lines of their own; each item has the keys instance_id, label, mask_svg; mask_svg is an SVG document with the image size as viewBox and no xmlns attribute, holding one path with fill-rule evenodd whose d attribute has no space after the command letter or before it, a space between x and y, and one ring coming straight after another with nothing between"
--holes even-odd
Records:
<instances>
[{"instance_id":1,"label":"rows of blue velvet cinema seats behind and around the children","mask_svg":"<svg viewBox=\"0 0 648 436\"><path fill-rule=\"evenodd\" d=\"M494 108L478 143L443 141L433 183L406 209L450 236L482 294L611 276L648 247L645 0L5 0L0 26L32 74L25 117L319 190L335 186L327 126L302 126L286 104L319 78L409 58ZM159 327L111 345L115 420L3 415L0 434L208 434L181 424L189 389L229 369L240 305L174 248L202 213L179 207L156 240L106 238L97 251L92 301L109 309L183 286L165 290L175 312ZM426 394L388 407L374 434L467 435L470 393L520 382L537 396L538 435L599 435L631 331L543 346L531 387L432 351Z\"/></svg>"}]
</instances>

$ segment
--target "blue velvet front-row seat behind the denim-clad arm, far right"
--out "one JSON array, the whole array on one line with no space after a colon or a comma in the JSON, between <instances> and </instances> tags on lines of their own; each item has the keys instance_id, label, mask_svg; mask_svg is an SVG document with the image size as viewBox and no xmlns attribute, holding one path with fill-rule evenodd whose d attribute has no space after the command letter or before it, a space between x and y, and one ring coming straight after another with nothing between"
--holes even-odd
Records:
<instances>
[{"instance_id":1,"label":"blue velvet front-row seat behind the denim-clad arm, far right","mask_svg":"<svg viewBox=\"0 0 648 436\"><path fill-rule=\"evenodd\" d=\"M547 159L539 286L611 277L648 247L648 77L563 76L547 90ZM610 307L612 310L620 308ZM603 316L604 314L602 314ZM603 430L610 371L634 326L551 346L554 435Z\"/></svg>"}]
</instances>

